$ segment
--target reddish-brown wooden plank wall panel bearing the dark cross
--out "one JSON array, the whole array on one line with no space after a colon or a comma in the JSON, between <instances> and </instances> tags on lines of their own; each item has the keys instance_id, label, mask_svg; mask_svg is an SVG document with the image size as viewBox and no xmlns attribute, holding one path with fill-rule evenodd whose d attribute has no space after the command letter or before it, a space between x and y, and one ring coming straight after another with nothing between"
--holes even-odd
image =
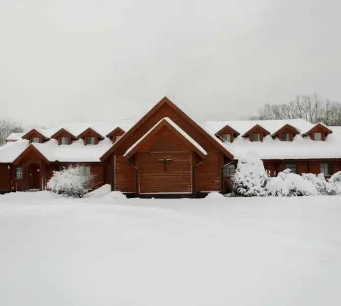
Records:
<instances>
[{"instance_id":1,"label":"reddish-brown wooden plank wall panel bearing the dark cross","mask_svg":"<svg viewBox=\"0 0 341 306\"><path fill-rule=\"evenodd\" d=\"M192 154L139 153L140 193L191 193Z\"/></svg>"}]
</instances>

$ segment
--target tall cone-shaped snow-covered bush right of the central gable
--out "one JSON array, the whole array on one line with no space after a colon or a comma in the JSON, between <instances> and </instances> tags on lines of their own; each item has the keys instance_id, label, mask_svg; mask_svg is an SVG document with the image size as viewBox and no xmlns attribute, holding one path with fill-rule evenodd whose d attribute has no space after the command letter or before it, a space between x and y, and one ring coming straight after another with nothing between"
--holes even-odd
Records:
<instances>
[{"instance_id":1,"label":"tall cone-shaped snow-covered bush right of the central gable","mask_svg":"<svg viewBox=\"0 0 341 306\"><path fill-rule=\"evenodd\" d=\"M266 196L267 180L269 175L262 160L253 151L249 151L238 161L232 193L234 196Z\"/></svg>"}]
</instances>

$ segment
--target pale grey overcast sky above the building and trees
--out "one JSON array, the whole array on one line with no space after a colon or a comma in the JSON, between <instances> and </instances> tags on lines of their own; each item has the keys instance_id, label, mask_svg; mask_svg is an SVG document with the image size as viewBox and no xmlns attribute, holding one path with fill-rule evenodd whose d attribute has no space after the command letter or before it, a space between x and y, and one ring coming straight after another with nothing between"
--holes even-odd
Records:
<instances>
[{"instance_id":1,"label":"pale grey overcast sky above the building and trees","mask_svg":"<svg viewBox=\"0 0 341 306\"><path fill-rule=\"evenodd\" d=\"M138 117L164 95L240 119L341 102L339 0L0 0L0 117Z\"/></svg>"}]
</instances>

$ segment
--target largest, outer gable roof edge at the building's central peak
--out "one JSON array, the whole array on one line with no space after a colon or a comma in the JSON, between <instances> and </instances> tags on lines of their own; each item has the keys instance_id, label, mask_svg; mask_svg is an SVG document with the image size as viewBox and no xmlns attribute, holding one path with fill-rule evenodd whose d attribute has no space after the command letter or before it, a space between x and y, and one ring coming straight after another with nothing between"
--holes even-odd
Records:
<instances>
[{"instance_id":1,"label":"largest, outer gable roof edge at the building's central peak","mask_svg":"<svg viewBox=\"0 0 341 306\"><path fill-rule=\"evenodd\" d=\"M234 159L233 155L227 150L224 143L218 140L214 134L210 134L207 130L203 129L198 123L194 122L187 114L185 114L179 107L177 107L171 100L167 97L163 97L147 114L145 114L137 123L131 127L131 129L125 133L122 137L120 137L112 147L101 157L101 161L106 160L112 152L118 148L126 139L134 133L145 121L147 121L158 109L161 108L164 104L171 107L175 112L177 112L182 118L184 118L187 122L189 122L197 131L199 131L210 143L220 149L224 155L226 155L231 160Z\"/></svg>"}]
</instances>

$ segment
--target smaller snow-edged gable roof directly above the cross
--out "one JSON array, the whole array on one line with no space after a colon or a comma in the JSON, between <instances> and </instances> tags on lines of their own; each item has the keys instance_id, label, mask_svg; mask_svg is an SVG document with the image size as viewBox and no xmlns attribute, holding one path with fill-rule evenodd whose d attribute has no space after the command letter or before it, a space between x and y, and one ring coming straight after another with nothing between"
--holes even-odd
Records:
<instances>
[{"instance_id":1,"label":"smaller snow-edged gable roof directly above the cross","mask_svg":"<svg viewBox=\"0 0 341 306\"><path fill-rule=\"evenodd\" d=\"M158 121L152 129L150 129L147 133L145 133L139 140L137 140L123 155L126 159L129 159L134 155L136 150L140 147L140 145L143 143L143 141L149 139L150 137L153 137L156 135L162 127L167 126L170 130L172 130L175 134L177 134L180 138L185 140L186 142L189 142L192 146L193 150L197 152L197 154L204 159L207 155L207 152L204 150L204 148L196 142L193 138L191 138L184 130L181 129L179 125L177 125L174 121L171 119L165 117L162 118L160 121Z\"/></svg>"}]
</instances>

